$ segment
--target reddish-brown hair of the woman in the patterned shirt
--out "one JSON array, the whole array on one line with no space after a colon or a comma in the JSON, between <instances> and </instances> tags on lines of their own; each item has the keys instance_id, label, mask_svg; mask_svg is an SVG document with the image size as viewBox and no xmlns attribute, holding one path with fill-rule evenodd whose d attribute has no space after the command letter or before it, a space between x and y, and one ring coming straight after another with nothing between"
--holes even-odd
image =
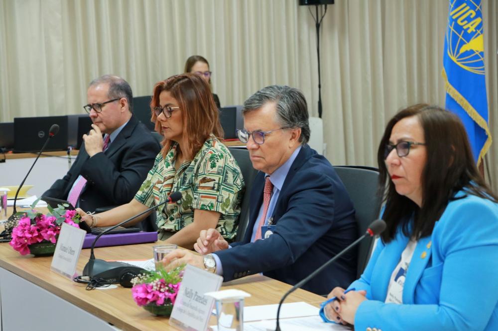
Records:
<instances>
[{"instance_id":1,"label":"reddish-brown hair of the woman in the patterned shirt","mask_svg":"<svg viewBox=\"0 0 498 331\"><path fill-rule=\"evenodd\" d=\"M182 153L187 158L193 158L201 149L202 145L214 134L217 138L223 139L223 129L221 128L218 107L213 100L209 85L200 77L194 74L182 74L171 76L154 85L150 109L152 112L152 122L155 122L155 131L161 132L161 125L156 121L154 107L160 106L159 94L162 91L169 91L171 96L178 101L178 106L183 115L183 135L187 137L187 146L182 146ZM168 139L162 141L162 155L171 147L172 142Z\"/></svg>"}]
</instances>

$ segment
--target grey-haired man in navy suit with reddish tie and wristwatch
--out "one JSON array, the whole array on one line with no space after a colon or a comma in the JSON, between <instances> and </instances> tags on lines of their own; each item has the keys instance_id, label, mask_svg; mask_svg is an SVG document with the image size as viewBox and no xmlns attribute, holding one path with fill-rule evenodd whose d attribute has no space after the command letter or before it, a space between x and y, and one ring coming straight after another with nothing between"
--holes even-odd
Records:
<instances>
[{"instance_id":1,"label":"grey-haired man in navy suit with reddish tie and wristwatch","mask_svg":"<svg viewBox=\"0 0 498 331\"><path fill-rule=\"evenodd\" d=\"M299 90L268 86L256 92L244 104L244 127L239 138L259 172L243 242L229 247L209 229L194 246L204 256L177 250L164 262L191 263L225 281L263 272L296 284L357 238L353 204L332 165L307 145L308 110ZM356 252L350 251L303 288L326 294L355 277Z\"/></svg>"}]
</instances>

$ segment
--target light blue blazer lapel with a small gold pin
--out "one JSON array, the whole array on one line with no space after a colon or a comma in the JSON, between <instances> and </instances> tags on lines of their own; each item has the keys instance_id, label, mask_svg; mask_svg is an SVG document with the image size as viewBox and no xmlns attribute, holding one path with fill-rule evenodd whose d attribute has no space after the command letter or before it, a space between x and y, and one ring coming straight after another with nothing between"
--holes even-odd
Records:
<instances>
[{"instance_id":1,"label":"light blue blazer lapel with a small gold pin","mask_svg":"<svg viewBox=\"0 0 498 331\"><path fill-rule=\"evenodd\" d=\"M413 252L413 256L406 272L406 279L403 286L403 303L413 304L415 287L417 286L422 273L424 272L427 262L431 257L431 237L420 238L417 247Z\"/></svg>"}]
</instances>

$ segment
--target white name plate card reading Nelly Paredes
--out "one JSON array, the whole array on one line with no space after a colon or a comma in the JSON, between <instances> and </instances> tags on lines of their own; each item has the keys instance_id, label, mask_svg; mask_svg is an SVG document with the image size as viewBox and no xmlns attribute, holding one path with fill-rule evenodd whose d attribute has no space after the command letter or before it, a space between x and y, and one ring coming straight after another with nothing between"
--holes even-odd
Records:
<instances>
[{"instance_id":1,"label":"white name plate card reading Nelly Paredes","mask_svg":"<svg viewBox=\"0 0 498 331\"><path fill-rule=\"evenodd\" d=\"M214 298L204 294L218 291L222 282L222 276L187 264L169 324L180 330L205 331Z\"/></svg>"}]
</instances>

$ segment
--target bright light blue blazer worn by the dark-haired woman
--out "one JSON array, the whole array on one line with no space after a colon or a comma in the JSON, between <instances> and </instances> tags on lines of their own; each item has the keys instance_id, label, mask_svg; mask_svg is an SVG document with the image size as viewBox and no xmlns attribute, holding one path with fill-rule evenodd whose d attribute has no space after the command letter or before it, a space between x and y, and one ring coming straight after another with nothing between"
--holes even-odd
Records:
<instances>
[{"instance_id":1,"label":"bright light blue blazer worn by the dark-haired woman","mask_svg":"<svg viewBox=\"0 0 498 331\"><path fill-rule=\"evenodd\" d=\"M369 299L356 312L355 330L498 330L498 204L475 195L450 202L432 235L417 243L403 304L386 304L408 240L401 231L386 245L378 240L365 272L350 285Z\"/></svg>"}]
</instances>

